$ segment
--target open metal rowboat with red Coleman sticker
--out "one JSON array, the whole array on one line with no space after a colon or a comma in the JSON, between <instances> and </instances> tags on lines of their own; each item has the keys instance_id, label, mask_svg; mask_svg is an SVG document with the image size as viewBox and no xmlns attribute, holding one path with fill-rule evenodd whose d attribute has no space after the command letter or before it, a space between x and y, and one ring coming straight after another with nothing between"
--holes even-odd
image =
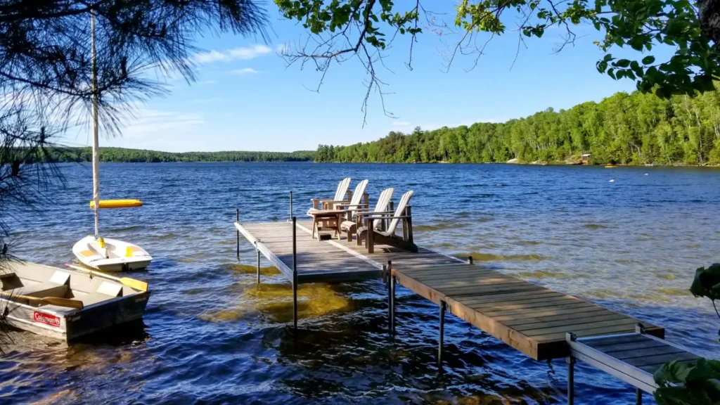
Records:
<instances>
[{"instance_id":1,"label":"open metal rowboat with red Coleman sticker","mask_svg":"<svg viewBox=\"0 0 720 405\"><path fill-rule=\"evenodd\" d=\"M8 308L9 324L66 341L142 319L150 297L150 291L103 276L29 262L9 263L0 273L0 285L0 308ZM37 298L79 301L83 308L61 302L51 305Z\"/></svg>"}]
</instances>

